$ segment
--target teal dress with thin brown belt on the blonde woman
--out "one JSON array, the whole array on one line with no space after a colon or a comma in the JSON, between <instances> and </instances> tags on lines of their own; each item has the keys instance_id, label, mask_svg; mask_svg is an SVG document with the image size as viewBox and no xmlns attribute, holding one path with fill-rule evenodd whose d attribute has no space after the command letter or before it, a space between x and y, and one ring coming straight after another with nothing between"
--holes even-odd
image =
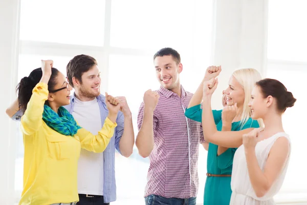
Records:
<instances>
[{"instance_id":1,"label":"teal dress with thin brown belt on the blonde woman","mask_svg":"<svg viewBox=\"0 0 307 205\"><path fill-rule=\"evenodd\" d=\"M212 113L216 129L217 131L221 131L223 125L222 110L212 110ZM201 105L188 108L185 112L185 115L190 119L201 122ZM259 128L258 121L249 118L244 126L240 125L240 121L233 122L231 125L231 131L239 131L248 128ZM233 156L237 148L229 148L220 156L217 156L217 148L217 145L209 143L207 156L207 172L210 174L231 175ZM231 177L207 176L204 193L204 204L229 205L231 196L230 181Z\"/></svg>"}]
</instances>

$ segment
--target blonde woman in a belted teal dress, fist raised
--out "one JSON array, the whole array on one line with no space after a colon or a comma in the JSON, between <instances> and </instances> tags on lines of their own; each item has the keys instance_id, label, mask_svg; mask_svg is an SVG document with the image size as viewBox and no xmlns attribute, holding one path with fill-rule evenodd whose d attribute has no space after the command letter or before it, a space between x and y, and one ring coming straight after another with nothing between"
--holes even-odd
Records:
<instances>
[{"instance_id":1,"label":"blonde woman in a belted teal dress, fist raised","mask_svg":"<svg viewBox=\"0 0 307 205\"><path fill-rule=\"evenodd\" d=\"M258 121L251 118L251 111L248 107L252 88L256 81L261 79L260 74L254 69L240 69L235 71L230 77L229 87L224 91L226 103L224 109L211 111L211 105L209 103L203 103L203 107L206 106L204 110L210 109L210 116L203 117L203 109L200 103L203 98L204 83L210 78L216 77L220 72L221 67L209 67L207 69L202 84L196 90L185 112L188 118L195 121L203 121L204 137L206 139L208 139L208 132L205 131L204 126L207 127L207 125L204 124L209 123L210 125L214 123L216 126L213 132L209 132L209 134L212 134L211 138L215 138L215 143L213 142L214 140L210 141L214 144L209 143L209 147L208 142L203 143L205 148L208 147L207 179L204 193L204 204L208 205L229 204L234 153L242 145L242 135L250 132L253 128L259 127ZM211 98L206 99L206 102L209 100L211 101ZM240 140L238 136L241 137Z\"/></svg>"}]
</instances>

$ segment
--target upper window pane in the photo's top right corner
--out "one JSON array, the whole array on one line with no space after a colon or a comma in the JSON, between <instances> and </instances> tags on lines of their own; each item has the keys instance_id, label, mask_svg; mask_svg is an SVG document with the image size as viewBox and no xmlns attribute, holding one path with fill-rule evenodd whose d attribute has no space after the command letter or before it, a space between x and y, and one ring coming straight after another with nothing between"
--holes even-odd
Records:
<instances>
[{"instance_id":1,"label":"upper window pane in the photo's top right corner","mask_svg":"<svg viewBox=\"0 0 307 205\"><path fill-rule=\"evenodd\" d=\"M270 0L268 58L306 61L307 1Z\"/></svg>"}]
</instances>

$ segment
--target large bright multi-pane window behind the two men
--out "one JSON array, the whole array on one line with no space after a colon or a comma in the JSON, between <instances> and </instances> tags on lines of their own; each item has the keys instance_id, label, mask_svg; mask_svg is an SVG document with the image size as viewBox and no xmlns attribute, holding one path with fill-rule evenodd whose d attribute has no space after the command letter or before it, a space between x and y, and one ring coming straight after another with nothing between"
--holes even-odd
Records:
<instances>
[{"instance_id":1,"label":"large bright multi-pane window behind the two men","mask_svg":"<svg viewBox=\"0 0 307 205\"><path fill-rule=\"evenodd\" d=\"M65 74L78 54L95 57L102 72L101 92L126 96L137 134L137 113L147 89L158 89L152 56L163 47L181 54L181 83L194 92L211 55L212 1L200 0L21 0L18 80L53 59ZM15 190L22 189L23 146L19 137ZM200 149L198 202L203 201L206 152ZM148 158L137 150L116 154L116 204L144 204Z\"/></svg>"}]
</instances>

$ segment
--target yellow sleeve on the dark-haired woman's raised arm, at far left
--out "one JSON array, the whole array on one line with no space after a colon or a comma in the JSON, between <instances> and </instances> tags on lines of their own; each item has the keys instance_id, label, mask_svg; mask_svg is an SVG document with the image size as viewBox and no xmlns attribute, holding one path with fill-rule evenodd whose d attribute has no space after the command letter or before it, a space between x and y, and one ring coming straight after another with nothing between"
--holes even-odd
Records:
<instances>
[{"instance_id":1,"label":"yellow sleeve on the dark-haired woman's raised arm, at far left","mask_svg":"<svg viewBox=\"0 0 307 205\"><path fill-rule=\"evenodd\" d=\"M42 113L45 101L48 99L48 85L38 83L33 88L25 114L21 117L21 131L26 135L35 133L42 124Z\"/></svg>"}]
</instances>

